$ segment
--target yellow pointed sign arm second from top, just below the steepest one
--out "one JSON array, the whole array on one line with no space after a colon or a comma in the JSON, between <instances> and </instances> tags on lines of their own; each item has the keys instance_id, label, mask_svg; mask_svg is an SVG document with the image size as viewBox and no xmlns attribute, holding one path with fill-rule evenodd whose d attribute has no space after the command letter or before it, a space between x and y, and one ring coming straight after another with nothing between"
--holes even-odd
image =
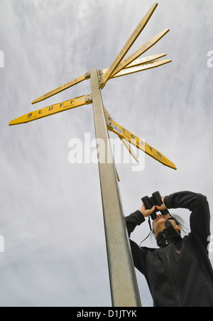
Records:
<instances>
[{"instance_id":1,"label":"yellow pointed sign arm second from top, just below the steepest one","mask_svg":"<svg viewBox=\"0 0 213 321\"><path fill-rule=\"evenodd\" d=\"M129 55L128 58L124 59L119 66L116 68L116 70L114 71L114 73L111 75L111 77L113 77L114 75L116 75L118 72L120 72L121 70L123 70L124 68L128 67L131 62L133 62L134 60L136 60L138 57L140 57L141 55L143 55L143 53L146 53L147 50L149 50L150 48L153 47L153 45L155 45L155 43L158 43L158 41L163 38L163 36L165 36L168 32L170 31L170 29L165 29L163 31L161 31L160 33L158 33L158 35L154 36L153 38L151 38L150 40L148 40L144 45L141 45L140 48L138 48L138 50L136 50L134 53L132 53L131 55Z\"/></svg>"}]
</instances>

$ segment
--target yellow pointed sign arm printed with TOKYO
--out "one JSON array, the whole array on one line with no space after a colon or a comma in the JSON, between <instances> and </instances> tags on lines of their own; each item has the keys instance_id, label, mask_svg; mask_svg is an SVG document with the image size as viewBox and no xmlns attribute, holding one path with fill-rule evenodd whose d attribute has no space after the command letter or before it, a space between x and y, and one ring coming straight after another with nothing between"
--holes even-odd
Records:
<instances>
[{"instance_id":1,"label":"yellow pointed sign arm printed with TOKYO","mask_svg":"<svg viewBox=\"0 0 213 321\"><path fill-rule=\"evenodd\" d=\"M113 119L111 119L111 116L109 115L107 110L105 111L105 114L109 131L114 132L114 134L118 135L121 139L126 139L126 141L129 141L129 143L131 143L133 146L136 146L136 148L140 149L155 160L158 160L158 162L162 163L163 165L177 170L175 164L173 164L170 160L168 160L168 158L163 156L162 153L160 153L151 145L148 145L148 143L145 143L145 141L142 141L136 135L132 134L127 129L124 129L124 127L117 124Z\"/></svg>"}]
</instances>

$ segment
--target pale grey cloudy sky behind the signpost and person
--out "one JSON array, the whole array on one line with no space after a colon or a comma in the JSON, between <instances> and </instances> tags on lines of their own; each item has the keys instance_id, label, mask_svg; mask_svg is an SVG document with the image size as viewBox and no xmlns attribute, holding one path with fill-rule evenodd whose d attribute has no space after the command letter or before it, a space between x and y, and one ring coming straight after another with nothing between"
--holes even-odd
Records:
<instances>
[{"instance_id":1,"label":"pale grey cloudy sky behind the signpost and person","mask_svg":"<svg viewBox=\"0 0 213 321\"><path fill-rule=\"evenodd\" d=\"M200 192L213 207L212 0L158 4L130 53L170 28L143 57L167 53L173 62L111 80L102 95L116 122L145 138L178 170L148 156L139 172L132 164L117 164L126 216L156 190ZM87 80L31 105L94 67L109 67L152 5L151 0L0 1L0 306L111 306L98 167L69 162L72 138L95 137L92 105L8 124L89 94ZM175 213L189 229L190 212ZM146 222L132 239L140 244L148 231ZM154 247L155 240L144 246ZM209 257L213 263L213 253ZM142 304L152 306L146 281L136 273Z\"/></svg>"}]
</instances>

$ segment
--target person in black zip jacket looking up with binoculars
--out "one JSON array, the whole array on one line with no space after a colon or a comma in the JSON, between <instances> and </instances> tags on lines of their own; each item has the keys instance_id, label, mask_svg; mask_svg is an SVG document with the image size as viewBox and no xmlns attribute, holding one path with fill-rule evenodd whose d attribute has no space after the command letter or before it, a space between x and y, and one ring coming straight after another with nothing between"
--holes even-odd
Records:
<instances>
[{"instance_id":1,"label":"person in black zip jacket looking up with binoculars","mask_svg":"<svg viewBox=\"0 0 213 321\"><path fill-rule=\"evenodd\" d=\"M213 270L209 261L210 212L207 197L194 192L177 192L162 197L158 210L190 210L191 232L181 237L180 223L169 214L158 214L153 233L158 249L138 246L130 239L135 267L143 273L154 307L213 307ZM131 233L155 211L141 210L126 217ZM167 222L170 222L168 224ZM170 228L168 228L170 227ZM171 229L172 227L172 229Z\"/></svg>"}]
</instances>

